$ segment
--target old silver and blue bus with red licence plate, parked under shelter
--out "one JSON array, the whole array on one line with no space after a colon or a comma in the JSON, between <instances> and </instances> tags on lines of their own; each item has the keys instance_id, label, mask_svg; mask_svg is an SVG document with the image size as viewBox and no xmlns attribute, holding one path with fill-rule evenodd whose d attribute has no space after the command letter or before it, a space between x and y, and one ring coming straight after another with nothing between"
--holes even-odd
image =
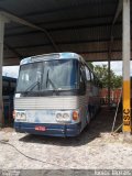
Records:
<instances>
[{"instance_id":1,"label":"old silver and blue bus with red licence plate, parked under shelter","mask_svg":"<svg viewBox=\"0 0 132 176\"><path fill-rule=\"evenodd\" d=\"M76 53L28 57L20 63L14 129L40 135L76 136L100 107L100 81Z\"/></svg>"}]
</instances>

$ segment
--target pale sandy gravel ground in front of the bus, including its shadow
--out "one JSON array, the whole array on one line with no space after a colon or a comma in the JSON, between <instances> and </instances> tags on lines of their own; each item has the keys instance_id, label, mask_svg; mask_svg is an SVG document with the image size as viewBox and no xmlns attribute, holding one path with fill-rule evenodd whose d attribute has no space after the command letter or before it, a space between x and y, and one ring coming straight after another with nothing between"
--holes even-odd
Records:
<instances>
[{"instance_id":1,"label":"pale sandy gravel ground in front of the bus, including its shadow","mask_svg":"<svg viewBox=\"0 0 132 176\"><path fill-rule=\"evenodd\" d=\"M123 134L111 135L114 110L99 112L90 127L77 138L50 138L0 130L0 140L9 140L14 147L0 143L0 168L2 169L132 169L132 143L123 141ZM117 127L121 123L118 117Z\"/></svg>"}]
</instances>

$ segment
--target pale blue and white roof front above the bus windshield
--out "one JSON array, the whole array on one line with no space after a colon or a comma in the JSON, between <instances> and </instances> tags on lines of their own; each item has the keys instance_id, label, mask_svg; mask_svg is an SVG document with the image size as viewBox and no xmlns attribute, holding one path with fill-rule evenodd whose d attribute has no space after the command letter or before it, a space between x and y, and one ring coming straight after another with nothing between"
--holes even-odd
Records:
<instances>
[{"instance_id":1,"label":"pale blue and white roof front above the bus windshield","mask_svg":"<svg viewBox=\"0 0 132 176\"><path fill-rule=\"evenodd\" d=\"M76 53L65 52L65 53L51 53L51 54L43 54L43 55L26 57L21 61L20 65L35 63L35 62L42 62L42 61L69 59L69 58L85 62L80 55L78 55Z\"/></svg>"}]
</instances>

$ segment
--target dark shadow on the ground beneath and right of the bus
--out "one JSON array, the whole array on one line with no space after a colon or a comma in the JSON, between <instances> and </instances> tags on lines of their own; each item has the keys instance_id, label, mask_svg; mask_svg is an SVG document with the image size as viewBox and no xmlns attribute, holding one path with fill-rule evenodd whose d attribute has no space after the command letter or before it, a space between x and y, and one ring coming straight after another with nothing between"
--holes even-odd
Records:
<instances>
[{"instance_id":1,"label":"dark shadow on the ground beneath and right of the bus","mask_svg":"<svg viewBox=\"0 0 132 176\"><path fill-rule=\"evenodd\" d=\"M100 112L91 121L89 127L76 138L55 138L55 136L42 136L26 134L21 138L20 141L25 143L41 143L59 146L79 146L85 145L97 138L100 138L100 133L110 133L112 129L113 118L116 109L109 110L107 107L102 107ZM121 113L117 117L116 129L121 124Z\"/></svg>"}]
</instances>

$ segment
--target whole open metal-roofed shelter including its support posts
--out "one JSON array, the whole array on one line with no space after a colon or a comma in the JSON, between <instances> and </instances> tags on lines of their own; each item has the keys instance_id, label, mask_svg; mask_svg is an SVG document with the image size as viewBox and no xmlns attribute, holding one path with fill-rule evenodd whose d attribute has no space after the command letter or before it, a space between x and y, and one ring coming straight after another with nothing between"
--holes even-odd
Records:
<instances>
[{"instance_id":1,"label":"whole open metal-roofed shelter including its support posts","mask_svg":"<svg viewBox=\"0 0 132 176\"><path fill-rule=\"evenodd\" d=\"M131 8L130 0L0 0L0 86L2 65L32 55L75 52L86 61L109 61L109 79L110 61L123 57L123 132L130 134ZM2 111L1 87L0 123Z\"/></svg>"}]
</instances>

